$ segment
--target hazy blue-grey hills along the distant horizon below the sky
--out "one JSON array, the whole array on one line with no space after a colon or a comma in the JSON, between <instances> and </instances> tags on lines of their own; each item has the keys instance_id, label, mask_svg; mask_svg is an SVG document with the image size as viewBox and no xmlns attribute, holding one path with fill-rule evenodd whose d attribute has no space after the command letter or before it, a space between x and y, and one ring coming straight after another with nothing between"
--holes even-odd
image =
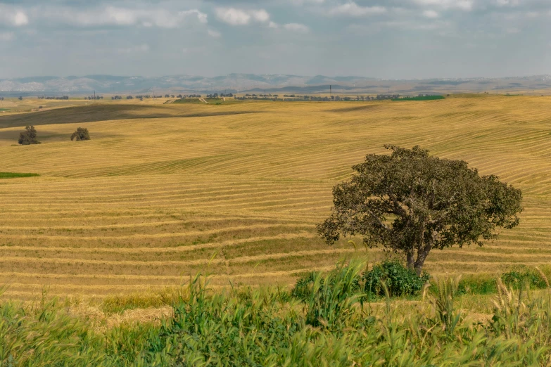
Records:
<instances>
[{"instance_id":1,"label":"hazy blue-grey hills along the distant horizon below the sky","mask_svg":"<svg viewBox=\"0 0 551 367\"><path fill-rule=\"evenodd\" d=\"M461 91L540 91L550 89L551 76L467 79L374 79L367 77L313 77L300 75L229 74L219 77L170 75L165 77L117 77L85 75L83 77L25 77L0 79L0 96L25 94L101 94L163 92L270 91L318 93L452 93Z\"/></svg>"}]
</instances>

